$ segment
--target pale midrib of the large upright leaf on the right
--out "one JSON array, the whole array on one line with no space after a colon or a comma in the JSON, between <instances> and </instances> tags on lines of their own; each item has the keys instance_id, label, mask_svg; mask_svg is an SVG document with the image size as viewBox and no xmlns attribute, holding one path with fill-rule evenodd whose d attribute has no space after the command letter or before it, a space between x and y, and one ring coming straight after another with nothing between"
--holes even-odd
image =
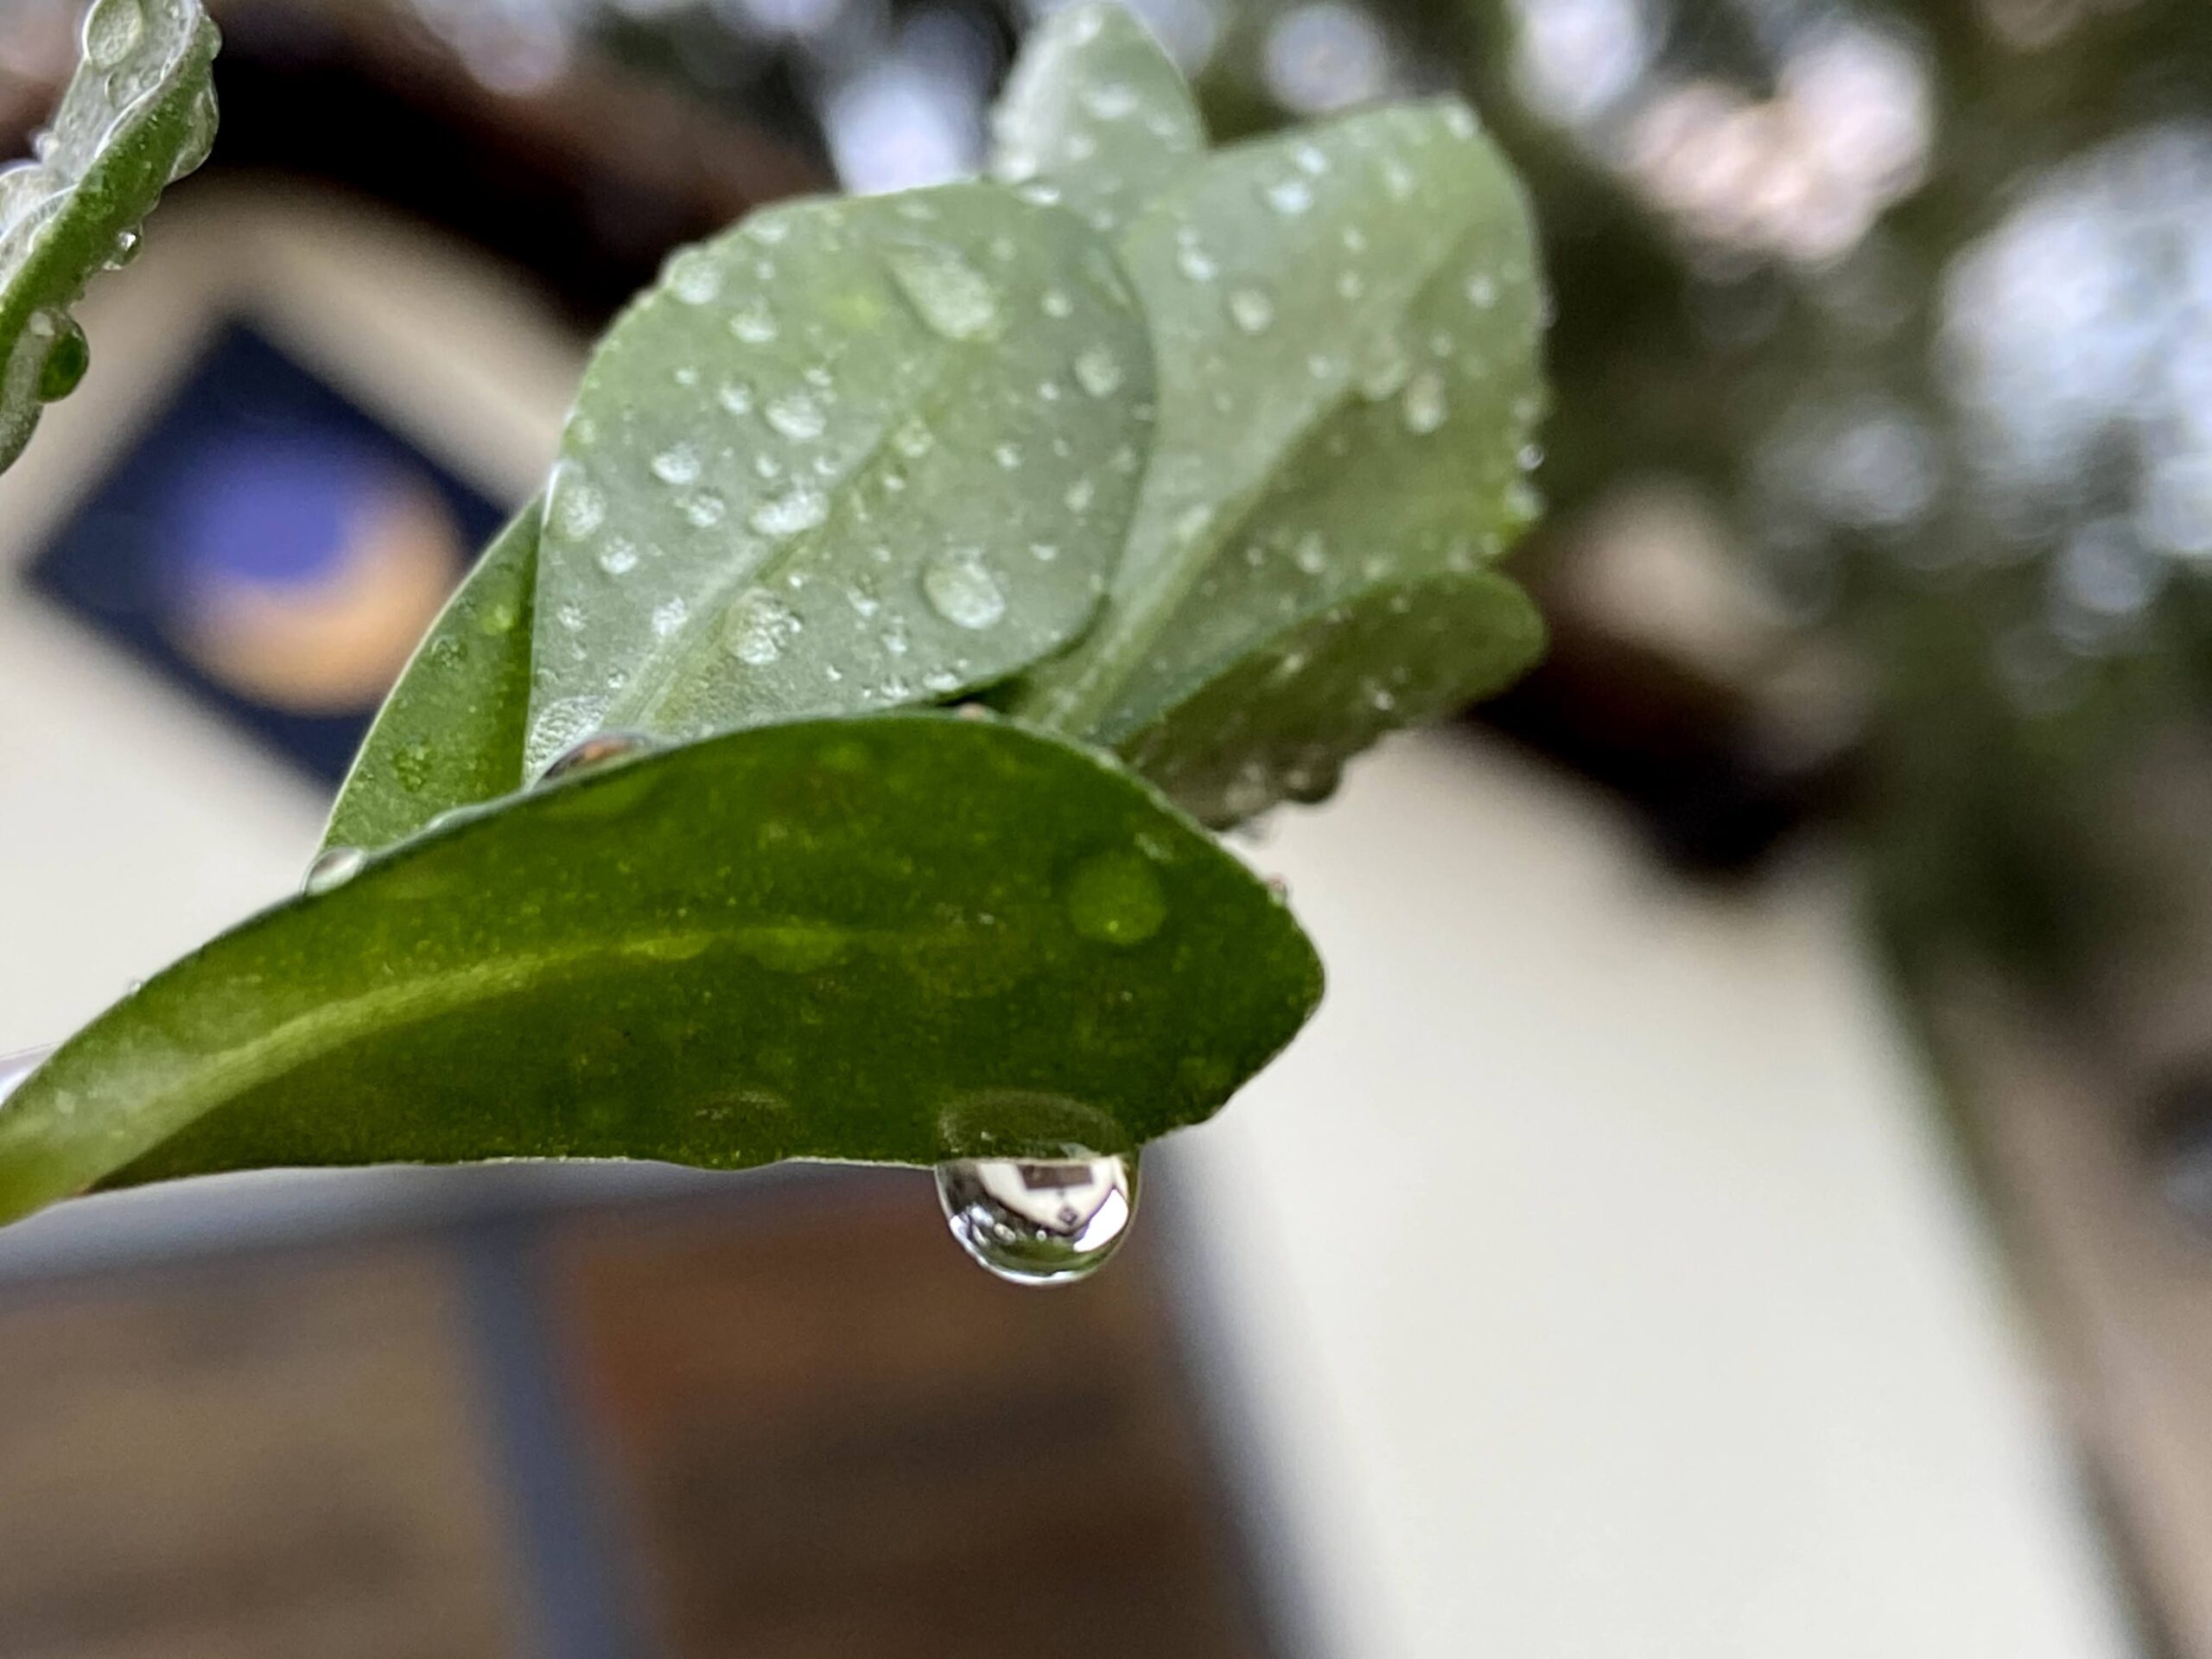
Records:
<instances>
[{"instance_id":1,"label":"pale midrib of the large upright leaf on the right","mask_svg":"<svg viewBox=\"0 0 2212 1659\"><path fill-rule=\"evenodd\" d=\"M1383 307L1387 316L1396 319L1394 327L1405 325L1407 312L1413 310L1420 296L1451 265L1451 261L1464 252L1473 234L1473 228L1462 230L1442 246L1442 252L1438 252L1436 259L1420 265L1418 281L1405 285L1402 294L1394 294L1391 303ZM1265 473L1237 495L1230 495L1228 507L1217 511L1212 522L1208 522L1203 540L1190 544L1192 551L1203 546L1203 557L1175 557L1170 553L1168 557L1152 560L1150 568L1157 575L1148 575L1144 586L1133 591L1128 599L1115 595L1115 604L1128 622L1124 626L1108 622L1106 637L1099 639L1097 655L1093 655L1077 675L1048 688L1042 697L1022 699L1018 712L1022 712L1024 719L1033 719L1048 730L1066 732L1071 737L1091 737L1108 743L1119 737L1119 732L1102 730L1102 721L1113 708L1113 699L1130 684L1130 679L1135 679L1135 668L1144 664L1152 646L1159 641L1159 635L1166 633L1166 628L1181 613L1190 591L1206 577L1206 571L1212 568L1221 549L1237 540L1234 533L1250 522L1252 511L1274 493L1283 462L1303 453L1332 420L1354 409L1356 398L1360 398L1360 392L1358 358L1354 354L1345 358L1343 380L1332 387L1327 396L1316 398L1314 409L1292 427L1283 447L1276 451L1276 460L1265 469ZM1157 451L1150 462L1157 462ZM1139 513L1141 511L1144 509L1139 507ZM1159 533L1172 544L1172 524L1159 526ZM1031 708L1031 701L1042 708Z\"/></svg>"}]
</instances>

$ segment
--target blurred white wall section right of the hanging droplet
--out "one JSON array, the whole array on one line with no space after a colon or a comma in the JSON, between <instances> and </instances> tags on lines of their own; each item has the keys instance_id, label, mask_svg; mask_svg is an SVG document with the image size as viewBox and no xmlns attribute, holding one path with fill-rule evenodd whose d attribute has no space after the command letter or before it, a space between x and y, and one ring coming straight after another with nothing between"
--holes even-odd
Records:
<instances>
[{"instance_id":1,"label":"blurred white wall section right of the hanging droplet","mask_svg":"<svg viewBox=\"0 0 2212 1659\"><path fill-rule=\"evenodd\" d=\"M1329 1002L1177 1175L1323 1652L2126 1650L1838 869L1683 887L1447 734L1256 863Z\"/></svg>"}]
</instances>

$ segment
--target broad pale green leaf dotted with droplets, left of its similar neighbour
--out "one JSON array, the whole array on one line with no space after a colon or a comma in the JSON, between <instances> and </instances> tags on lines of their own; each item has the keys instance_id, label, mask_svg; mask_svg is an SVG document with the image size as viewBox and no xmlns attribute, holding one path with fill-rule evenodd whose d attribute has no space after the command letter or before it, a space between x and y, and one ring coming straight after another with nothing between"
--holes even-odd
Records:
<instances>
[{"instance_id":1,"label":"broad pale green leaf dotted with droplets, left of its similar neighbour","mask_svg":"<svg viewBox=\"0 0 2212 1659\"><path fill-rule=\"evenodd\" d=\"M801 201L677 254L562 442L529 765L953 697L1091 622L1152 363L1073 215L991 184Z\"/></svg>"}]
</instances>

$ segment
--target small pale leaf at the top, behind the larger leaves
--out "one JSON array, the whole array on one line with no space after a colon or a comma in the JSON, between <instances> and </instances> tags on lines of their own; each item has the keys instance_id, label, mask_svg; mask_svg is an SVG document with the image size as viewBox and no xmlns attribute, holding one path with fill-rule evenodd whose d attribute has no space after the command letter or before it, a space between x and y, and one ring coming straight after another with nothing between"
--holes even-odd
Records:
<instances>
[{"instance_id":1,"label":"small pale leaf at the top, behind the larger leaves","mask_svg":"<svg viewBox=\"0 0 2212 1659\"><path fill-rule=\"evenodd\" d=\"M991 117L991 173L1048 179L1097 230L1119 230L1206 155L1183 73L1121 7L1048 15Z\"/></svg>"}]
</instances>

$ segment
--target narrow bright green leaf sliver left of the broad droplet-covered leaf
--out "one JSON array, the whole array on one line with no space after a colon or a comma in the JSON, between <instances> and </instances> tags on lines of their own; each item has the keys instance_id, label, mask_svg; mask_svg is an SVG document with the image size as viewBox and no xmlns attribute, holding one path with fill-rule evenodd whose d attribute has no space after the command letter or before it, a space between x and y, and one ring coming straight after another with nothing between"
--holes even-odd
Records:
<instances>
[{"instance_id":1,"label":"narrow bright green leaf sliver left of the broad droplet-covered leaf","mask_svg":"<svg viewBox=\"0 0 2212 1659\"><path fill-rule=\"evenodd\" d=\"M338 790L325 849L385 847L522 787L540 515L531 502L484 549L416 648Z\"/></svg>"}]
</instances>

